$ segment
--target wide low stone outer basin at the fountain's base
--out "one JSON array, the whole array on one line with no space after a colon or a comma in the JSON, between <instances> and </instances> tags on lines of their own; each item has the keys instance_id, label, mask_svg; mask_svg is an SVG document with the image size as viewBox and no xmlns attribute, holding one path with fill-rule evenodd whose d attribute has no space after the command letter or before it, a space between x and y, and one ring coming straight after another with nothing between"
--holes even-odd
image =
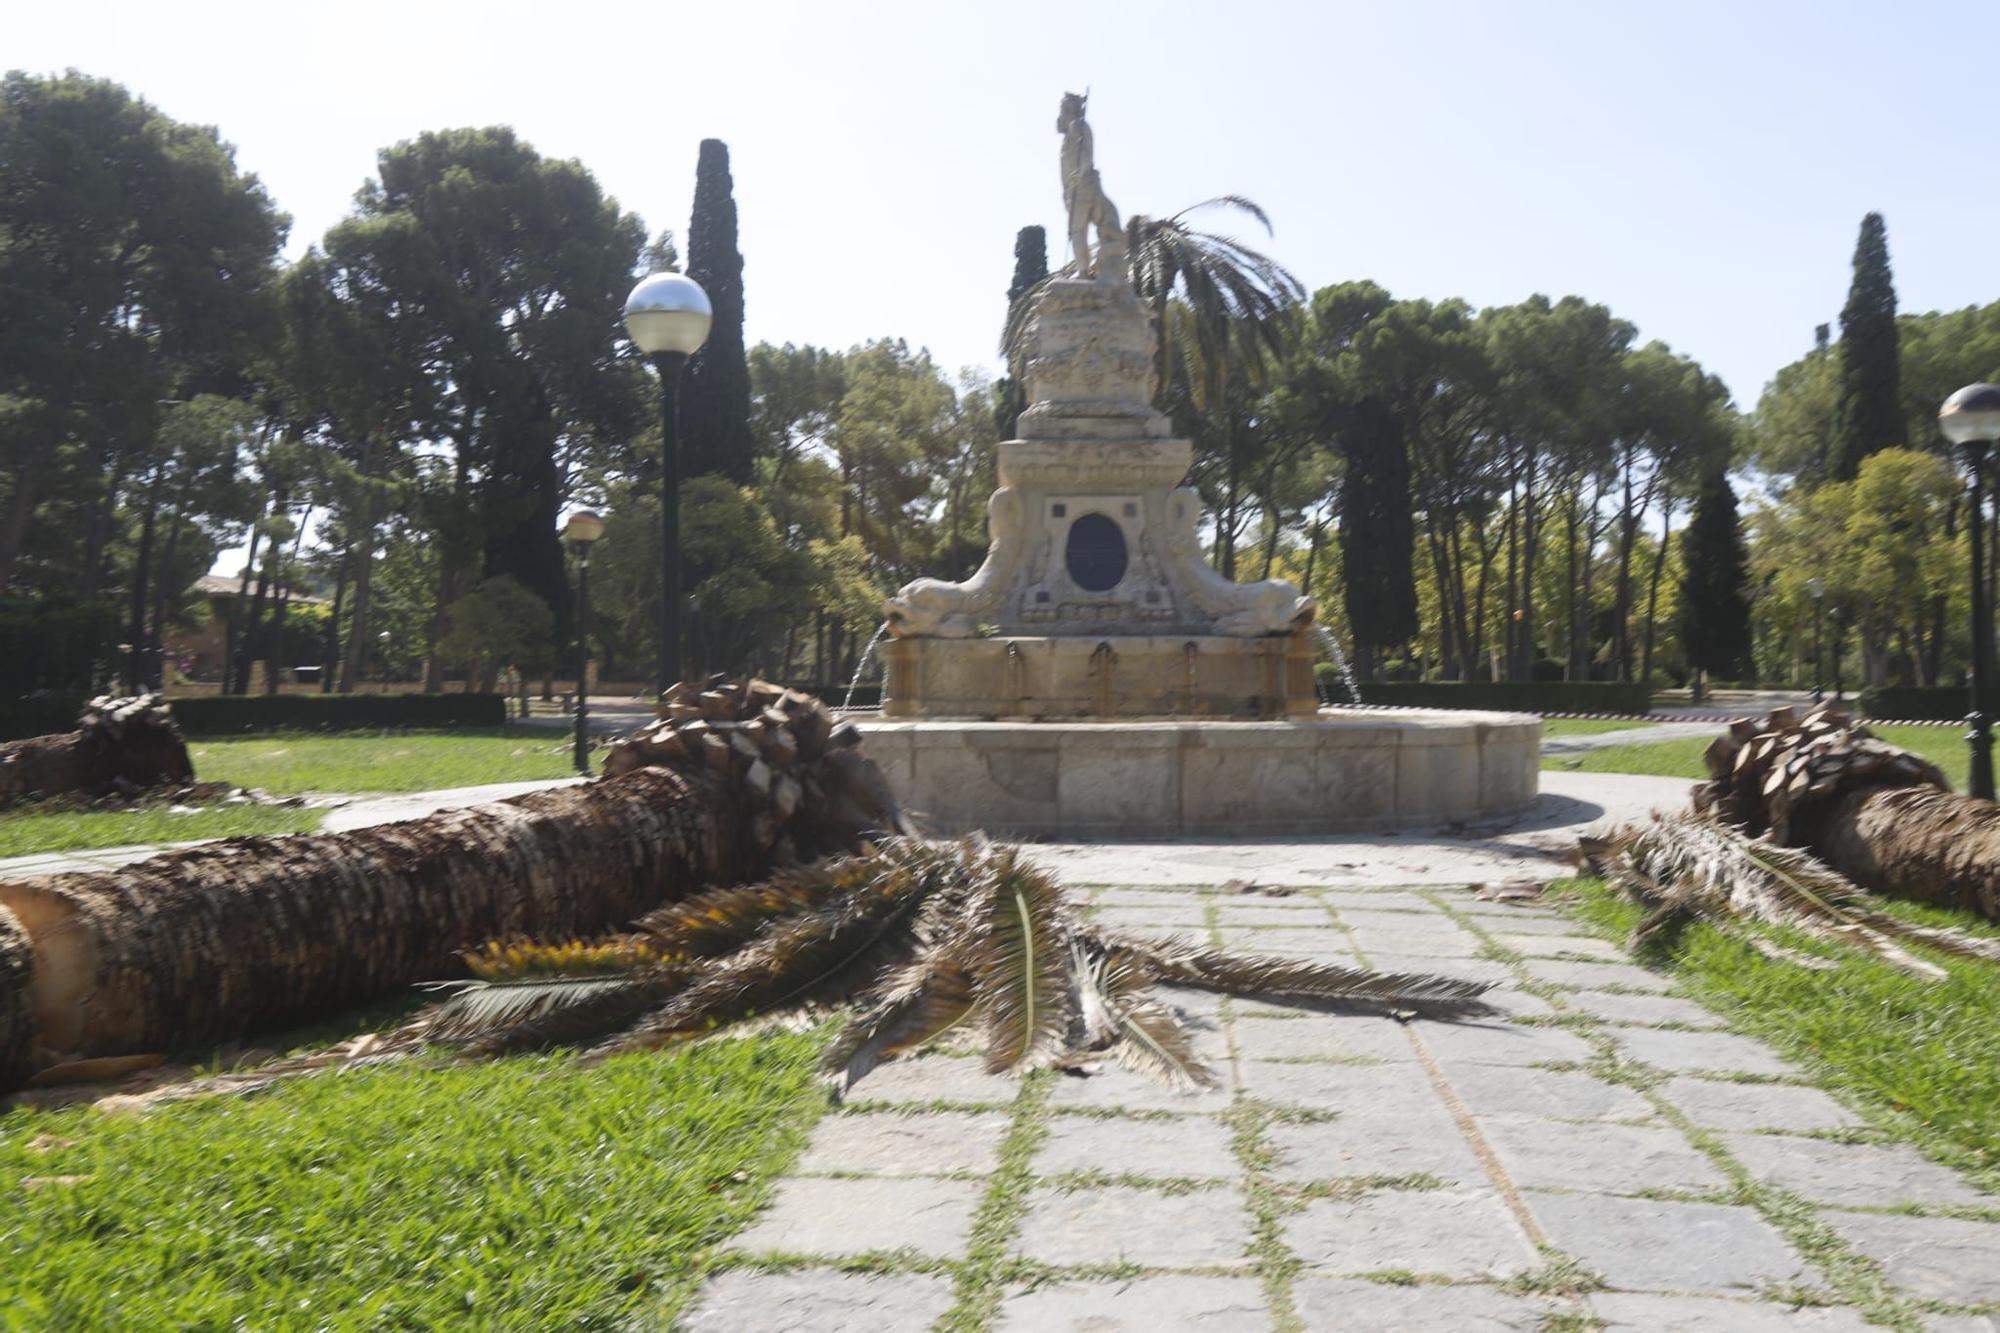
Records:
<instances>
[{"instance_id":1,"label":"wide low stone outer basin at the fountain's base","mask_svg":"<svg viewBox=\"0 0 2000 1333\"><path fill-rule=\"evenodd\" d=\"M1292 721L860 723L932 833L1268 837L1514 815L1534 803L1542 721L1328 709Z\"/></svg>"}]
</instances>

